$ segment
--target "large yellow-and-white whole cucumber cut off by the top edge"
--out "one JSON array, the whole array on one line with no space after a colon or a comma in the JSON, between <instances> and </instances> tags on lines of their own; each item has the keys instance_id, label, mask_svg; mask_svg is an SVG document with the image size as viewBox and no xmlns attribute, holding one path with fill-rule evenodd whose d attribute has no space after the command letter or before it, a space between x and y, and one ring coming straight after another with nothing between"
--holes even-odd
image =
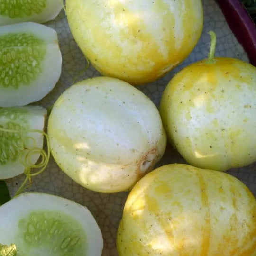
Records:
<instances>
[{"instance_id":1,"label":"large yellow-and-white whole cucumber cut off by the top edge","mask_svg":"<svg viewBox=\"0 0 256 256\"><path fill-rule=\"evenodd\" d=\"M103 75L133 85L180 64L203 27L201 0L66 0L70 30Z\"/></svg>"}]
</instances>

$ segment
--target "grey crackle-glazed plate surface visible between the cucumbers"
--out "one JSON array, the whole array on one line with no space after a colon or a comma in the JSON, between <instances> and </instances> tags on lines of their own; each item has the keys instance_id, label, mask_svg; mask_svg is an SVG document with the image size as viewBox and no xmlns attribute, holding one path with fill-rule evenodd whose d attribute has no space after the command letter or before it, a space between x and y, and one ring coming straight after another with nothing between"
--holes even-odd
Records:
<instances>
[{"instance_id":1,"label":"grey crackle-glazed plate surface visible between the cucumbers","mask_svg":"<svg viewBox=\"0 0 256 256\"><path fill-rule=\"evenodd\" d=\"M207 57L210 47L210 36L207 34L208 31L214 30L217 35L216 56L234 57L248 61L246 53L230 31L225 18L215 1L203 0L203 7L203 33L193 52L182 64L166 74L162 79L137 87L148 95L157 107L159 106L160 97L165 86L174 74L188 64ZM35 105L40 104L44 107L49 107L56 101L58 96L74 82L78 82L88 77L98 76L100 74L92 66L86 70L86 59L71 35L64 11L62 11L54 21L49 22L46 25L56 29L63 55L63 69L59 82L50 94L43 100L35 103ZM185 163L183 158L177 152L173 151L170 146L167 147L163 159L157 166L169 163ZM254 195L256 195L255 169L256 163L246 167L229 170L228 173L244 182ZM18 189L23 179L24 176L20 175L14 179L7 180L12 195ZM115 245L116 232L121 219L124 203L128 195L127 192L102 194L87 190L73 182L66 174L64 174L52 158L46 171L34 179L34 183L29 190L63 196L88 207L103 233L104 249L102 256L118 255Z\"/></svg>"}]
</instances>

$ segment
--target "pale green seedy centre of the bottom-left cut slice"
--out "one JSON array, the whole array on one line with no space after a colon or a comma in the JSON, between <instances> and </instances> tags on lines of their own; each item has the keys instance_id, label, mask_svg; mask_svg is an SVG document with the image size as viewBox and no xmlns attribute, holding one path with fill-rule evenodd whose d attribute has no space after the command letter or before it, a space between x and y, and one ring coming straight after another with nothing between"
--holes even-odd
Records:
<instances>
[{"instance_id":1,"label":"pale green seedy centre of the bottom-left cut slice","mask_svg":"<svg viewBox=\"0 0 256 256\"><path fill-rule=\"evenodd\" d=\"M84 256L87 239L80 224L62 212L35 211L18 223L20 256Z\"/></svg>"}]
</instances>

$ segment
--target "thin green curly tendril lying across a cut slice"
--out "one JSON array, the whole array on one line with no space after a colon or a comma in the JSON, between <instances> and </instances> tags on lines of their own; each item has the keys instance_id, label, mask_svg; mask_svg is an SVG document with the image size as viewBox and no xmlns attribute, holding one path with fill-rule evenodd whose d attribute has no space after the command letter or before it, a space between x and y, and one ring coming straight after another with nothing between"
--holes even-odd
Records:
<instances>
[{"instance_id":1,"label":"thin green curly tendril lying across a cut slice","mask_svg":"<svg viewBox=\"0 0 256 256\"><path fill-rule=\"evenodd\" d=\"M48 134L46 134L44 131L41 130L12 130L12 129L6 129L1 128L0 131L2 132L13 132L13 133L41 133L44 137L46 137L46 146L47 146L47 152L39 147L35 147L36 141L33 137L25 136L23 139L23 151L19 155L19 161L20 163L25 167L24 174L26 175L25 180L18 188L18 191L14 194L14 196L17 196L21 194L25 189L29 188L32 185L32 177L37 176L38 174L41 174L47 167L49 160L50 160L50 141ZM34 147L32 148L26 148L26 143L24 140L32 140ZM33 155L39 154L39 159L41 160L37 164L33 164L31 161ZM31 172L31 169L39 169L37 172ZM28 185L27 185L28 183Z\"/></svg>"}]
</instances>

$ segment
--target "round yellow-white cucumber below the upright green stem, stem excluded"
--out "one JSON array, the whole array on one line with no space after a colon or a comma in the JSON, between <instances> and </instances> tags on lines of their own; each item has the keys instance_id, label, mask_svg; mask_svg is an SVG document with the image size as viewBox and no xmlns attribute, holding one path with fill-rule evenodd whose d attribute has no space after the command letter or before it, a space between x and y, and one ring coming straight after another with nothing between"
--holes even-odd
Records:
<instances>
[{"instance_id":1,"label":"round yellow-white cucumber below the upright green stem, stem excluded","mask_svg":"<svg viewBox=\"0 0 256 256\"><path fill-rule=\"evenodd\" d=\"M187 163L226 171L256 161L256 67L234 58L202 60L177 73L160 114Z\"/></svg>"}]
</instances>

